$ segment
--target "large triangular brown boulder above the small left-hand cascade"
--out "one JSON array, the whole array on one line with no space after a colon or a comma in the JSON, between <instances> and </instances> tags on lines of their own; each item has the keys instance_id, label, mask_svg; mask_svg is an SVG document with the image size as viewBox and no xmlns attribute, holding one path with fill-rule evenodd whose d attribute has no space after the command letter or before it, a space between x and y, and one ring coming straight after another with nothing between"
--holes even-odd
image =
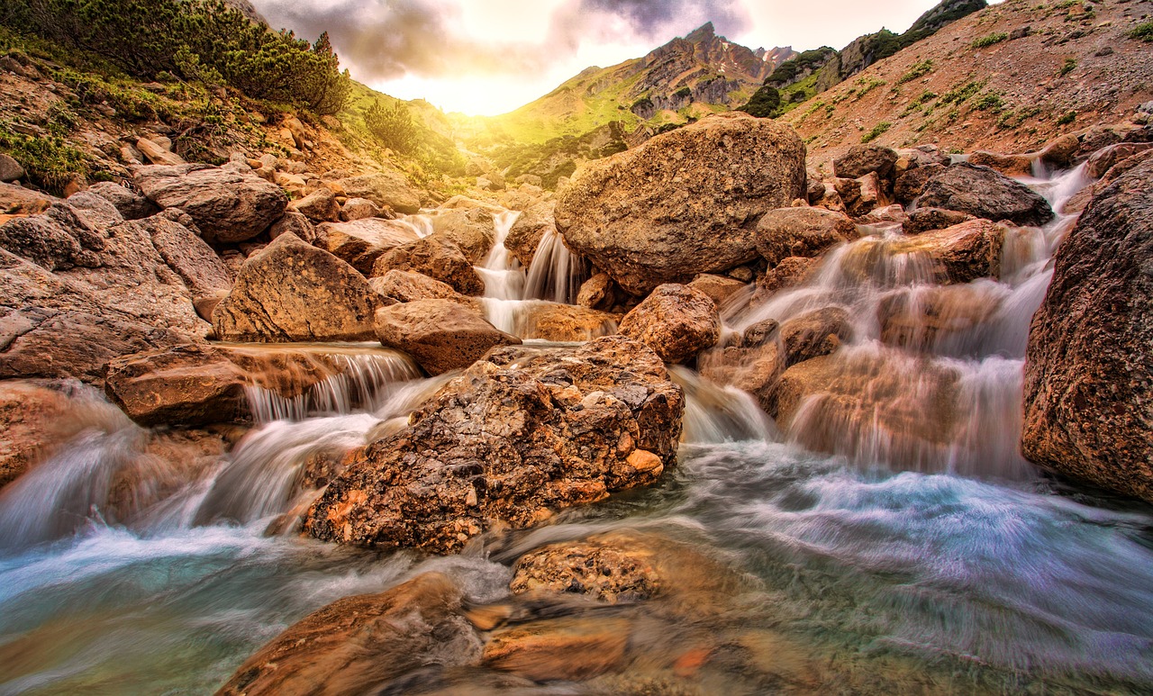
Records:
<instances>
[{"instance_id":1,"label":"large triangular brown boulder above the small left-hand cascade","mask_svg":"<svg viewBox=\"0 0 1153 696\"><path fill-rule=\"evenodd\" d=\"M223 341L362 341L378 304L355 268L282 234L244 262L212 326Z\"/></svg>"}]
</instances>

